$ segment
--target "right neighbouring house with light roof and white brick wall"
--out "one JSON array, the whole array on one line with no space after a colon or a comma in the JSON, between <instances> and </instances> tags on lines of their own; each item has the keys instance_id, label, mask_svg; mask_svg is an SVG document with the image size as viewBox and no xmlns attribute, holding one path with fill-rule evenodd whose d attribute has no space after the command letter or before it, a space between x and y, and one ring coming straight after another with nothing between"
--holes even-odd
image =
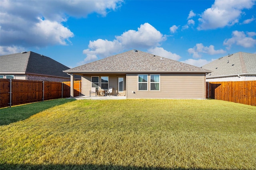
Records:
<instances>
[{"instance_id":1,"label":"right neighbouring house with light roof and white brick wall","mask_svg":"<svg viewBox=\"0 0 256 170\"><path fill-rule=\"evenodd\" d=\"M202 68L212 70L206 75L206 82L256 80L256 54L229 54L205 64Z\"/></svg>"}]
</instances>

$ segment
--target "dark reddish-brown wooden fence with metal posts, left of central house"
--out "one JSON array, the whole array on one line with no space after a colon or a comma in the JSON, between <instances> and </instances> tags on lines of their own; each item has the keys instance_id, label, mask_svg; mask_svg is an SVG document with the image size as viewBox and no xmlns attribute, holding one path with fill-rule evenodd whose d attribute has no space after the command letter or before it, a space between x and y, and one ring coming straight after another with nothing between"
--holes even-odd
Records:
<instances>
[{"instance_id":1,"label":"dark reddish-brown wooden fence with metal posts, left of central house","mask_svg":"<svg viewBox=\"0 0 256 170\"><path fill-rule=\"evenodd\" d=\"M74 96L81 94L81 81L74 81ZM0 79L0 107L70 97L70 82Z\"/></svg>"}]
</instances>

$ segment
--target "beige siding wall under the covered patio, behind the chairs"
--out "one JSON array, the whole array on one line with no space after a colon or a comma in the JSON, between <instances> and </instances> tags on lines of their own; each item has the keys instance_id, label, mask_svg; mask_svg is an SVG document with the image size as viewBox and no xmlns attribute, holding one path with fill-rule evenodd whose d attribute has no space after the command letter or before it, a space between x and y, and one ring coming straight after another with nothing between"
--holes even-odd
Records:
<instances>
[{"instance_id":1,"label":"beige siding wall under the covered patio, behind the chairs","mask_svg":"<svg viewBox=\"0 0 256 170\"><path fill-rule=\"evenodd\" d=\"M124 91L126 91L126 76L124 74L84 74L82 76L82 94L85 96L90 95L90 90L92 86L91 77L92 76L108 76L108 87L113 88L113 95L117 95L117 87L118 87L118 77L124 77Z\"/></svg>"}]
</instances>

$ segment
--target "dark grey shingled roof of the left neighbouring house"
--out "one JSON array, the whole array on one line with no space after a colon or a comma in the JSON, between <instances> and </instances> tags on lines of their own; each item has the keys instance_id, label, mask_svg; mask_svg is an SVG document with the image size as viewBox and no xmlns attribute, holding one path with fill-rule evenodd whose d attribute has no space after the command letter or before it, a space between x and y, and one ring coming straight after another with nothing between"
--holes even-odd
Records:
<instances>
[{"instance_id":1,"label":"dark grey shingled roof of the left neighbouring house","mask_svg":"<svg viewBox=\"0 0 256 170\"><path fill-rule=\"evenodd\" d=\"M32 51L0 56L0 74L38 74L70 78L69 67Z\"/></svg>"}]
</instances>

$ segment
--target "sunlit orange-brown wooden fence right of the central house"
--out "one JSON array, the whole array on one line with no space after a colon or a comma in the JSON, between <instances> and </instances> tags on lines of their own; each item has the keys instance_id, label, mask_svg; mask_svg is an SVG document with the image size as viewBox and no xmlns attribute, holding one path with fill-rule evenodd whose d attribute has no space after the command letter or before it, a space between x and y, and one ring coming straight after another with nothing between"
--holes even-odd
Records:
<instances>
[{"instance_id":1,"label":"sunlit orange-brown wooden fence right of the central house","mask_svg":"<svg viewBox=\"0 0 256 170\"><path fill-rule=\"evenodd\" d=\"M206 98L256 106L256 81L206 82Z\"/></svg>"}]
</instances>

